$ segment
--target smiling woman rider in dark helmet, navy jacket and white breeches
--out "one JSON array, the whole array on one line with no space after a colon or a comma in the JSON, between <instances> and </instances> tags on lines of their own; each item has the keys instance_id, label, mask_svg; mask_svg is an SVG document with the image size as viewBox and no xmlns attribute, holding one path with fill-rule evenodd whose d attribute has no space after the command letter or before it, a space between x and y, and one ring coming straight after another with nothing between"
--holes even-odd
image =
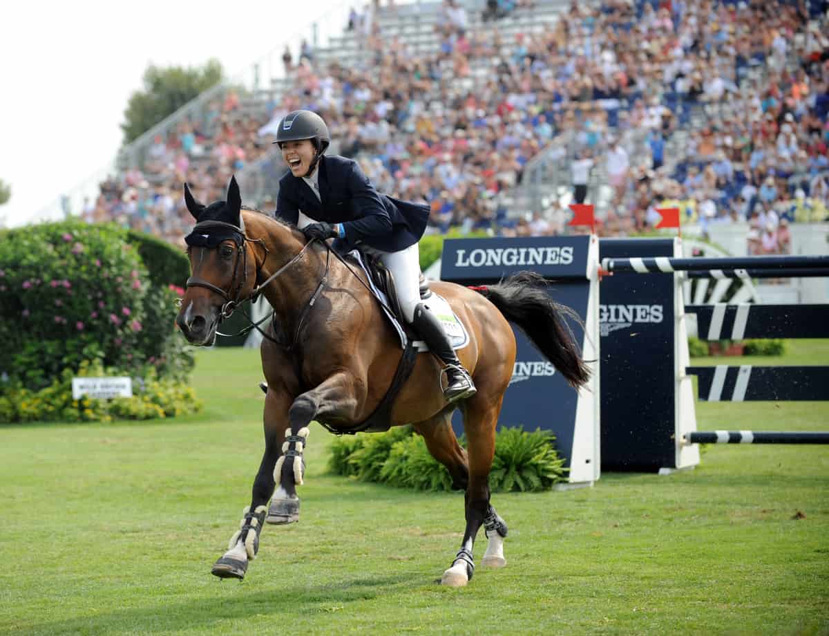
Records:
<instances>
[{"instance_id":1,"label":"smiling woman rider in dark helmet, navy jacket and white breeches","mask_svg":"<svg viewBox=\"0 0 829 636\"><path fill-rule=\"evenodd\" d=\"M279 180L276 216L310 239L337 239L334 248L358 247L388 267L405 320L446 366L444 397L475 395L472 377L458 360L438 318L420 302L418 240L429 206L376 191L352 159L326 156L328 127L310 110L294 110L279 122L276 141L290 169Z\"/></svg>"}]
</instances>

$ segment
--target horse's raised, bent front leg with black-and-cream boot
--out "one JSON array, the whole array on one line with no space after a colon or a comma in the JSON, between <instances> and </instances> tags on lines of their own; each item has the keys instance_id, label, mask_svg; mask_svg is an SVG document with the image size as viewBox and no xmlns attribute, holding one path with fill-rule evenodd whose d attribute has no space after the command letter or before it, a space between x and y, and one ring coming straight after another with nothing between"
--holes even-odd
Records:
<instances>
[{"instance_id":1,"label":"horse's raised, bent front leg with black-and-cream boot","mask_svg":"<svg viewBox=\"0 0 829 636\"><path fill-rule=\"evenodd\" d=\"M288 410L289 430L282 444L283 455L274 469L277 488L270 500L268 523L284 524L299 520L297 486L302 485L305 473L303 450L308 440L308 424L314 419L324 419L326 415L353 419L359 403L356 386L350 374L341 372L293 401Z\"/></svg>"}]
</instances>

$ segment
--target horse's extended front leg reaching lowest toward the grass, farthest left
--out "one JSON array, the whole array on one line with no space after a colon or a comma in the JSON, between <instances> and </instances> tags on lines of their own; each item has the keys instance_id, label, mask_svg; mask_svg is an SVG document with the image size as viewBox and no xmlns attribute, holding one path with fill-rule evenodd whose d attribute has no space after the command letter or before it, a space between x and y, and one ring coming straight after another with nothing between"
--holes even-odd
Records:
<instances>
[{"instance_id":1,"label":"horse's extended front leg reaching lowest toward the grass, farthest left","mask_svg":"<svg viewBox=\"0 0 829 636\"><path fill-rule=\"evenodd\" d=\"M221 578L245 578L248 564L259 551L259 535L265 520L268 499L274 492L274 466L279 458L291 397L284 391L269 389L264 402L264 455L256 473L250 506L242 511L240 529L230 537L230 544L213 565L212 573Z\"/></svg>"}]
</instances>

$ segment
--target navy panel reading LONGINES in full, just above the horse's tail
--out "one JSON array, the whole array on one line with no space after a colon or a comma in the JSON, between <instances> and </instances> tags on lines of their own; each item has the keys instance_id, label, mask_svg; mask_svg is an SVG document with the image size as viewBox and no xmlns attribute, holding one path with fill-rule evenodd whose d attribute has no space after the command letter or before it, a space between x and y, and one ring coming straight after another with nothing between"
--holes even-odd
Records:
<instances>
[{"instance_id":1,"label":"navy panel reading LONGINES in full, just above the horse's tail","mask_svg":"<svg viewBox=\"0 0 829 636\"><path fill-rule=\"evenodd\" d=\"M440 278L492 282L531 269L545 279L587 279L589 236L444 241Z\"/></svg>"}]
</instances>

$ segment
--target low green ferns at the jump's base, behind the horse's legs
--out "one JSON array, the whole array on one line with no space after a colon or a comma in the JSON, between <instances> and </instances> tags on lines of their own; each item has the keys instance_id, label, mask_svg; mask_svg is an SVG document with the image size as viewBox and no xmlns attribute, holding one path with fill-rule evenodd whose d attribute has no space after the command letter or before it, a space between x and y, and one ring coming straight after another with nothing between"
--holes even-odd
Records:
<instances>
[{"instance_id":1,"label":"low green ferns at the jump's base, behind the horse's legs","mask_svg":"<svg viewBox=\"0 0 829 636\"><path fill-rule=\"evenodd\" d=\"M564 459L556 453L554 439L545 430L499 430L489 474L492 491L547 490L565 481ZM424 439L410 426L337 438L330 453L328 469L335 474L400 488L452 489L448 471L429 454Z\"/></svg>"}]
</instances>

